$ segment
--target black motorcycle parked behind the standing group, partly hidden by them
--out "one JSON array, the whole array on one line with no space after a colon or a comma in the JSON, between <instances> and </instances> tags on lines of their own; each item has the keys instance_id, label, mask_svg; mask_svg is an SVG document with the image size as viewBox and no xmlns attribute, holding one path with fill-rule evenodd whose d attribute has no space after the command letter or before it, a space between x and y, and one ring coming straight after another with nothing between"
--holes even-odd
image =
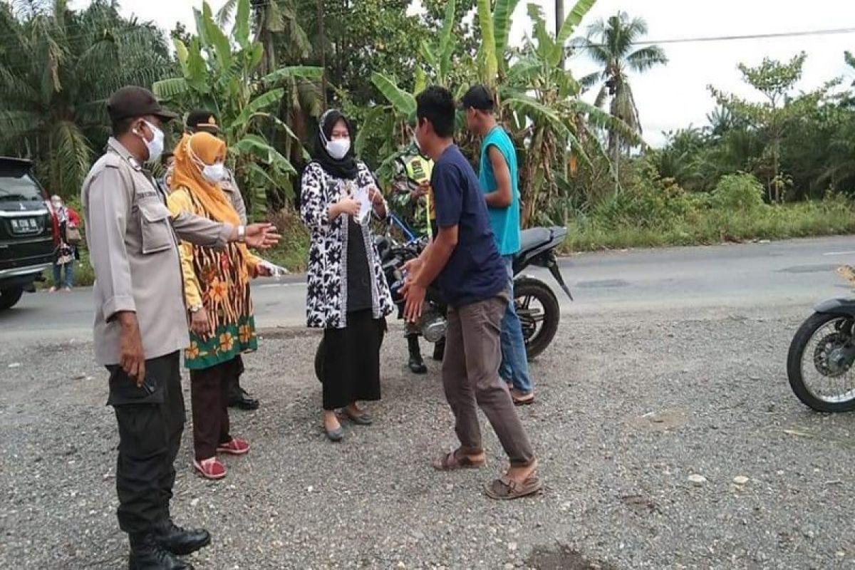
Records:
<instances>
[{"instance_id":1,"label":"black motorcycle parked behind the standing group, partly hidden by them","mask_svg":"<svg viewBox=\"0 0 855 570\"><path fill-rule=\"evenodd\" d=\"M396 230L403 235L403 239L393 236ZM567 228L561 226L535 227L521 232L521 247L513 260L513 301L522 325L522 338L529 361L546 350L552 338L555 338L561 310L549 285L523 272L531 266L545 267L570 301L573 301L573 295L564 282L555 255L556 248L563 243L566 236ZM396 214L389 214L386 231L375 238L375 243L383 272L386 274L386 282L392 292L392 301L398 306L398 319L403 319L404 297L400 294L400 288L404 285L405 276L402 268L404 263L421 255L428 245L428 238L416 237ZM416 323L419 334L429 343L436 344L445 340L445 311L442 293L439 287L433 284L426 291L422 318ZM323 340L315 352L315 375L323 381Z\"/></svg>"}]
</instances>

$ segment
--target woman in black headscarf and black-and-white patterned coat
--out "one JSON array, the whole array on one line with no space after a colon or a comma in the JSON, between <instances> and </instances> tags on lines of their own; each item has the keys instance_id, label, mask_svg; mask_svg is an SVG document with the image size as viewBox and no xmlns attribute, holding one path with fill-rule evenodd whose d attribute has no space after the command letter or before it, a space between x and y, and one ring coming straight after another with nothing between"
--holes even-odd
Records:
<instances>
[{"instance_id":1,"label":"woman in black headscarf and black-and-white patterned coat","mask_svg":"<svg viewBox=\"0 0 855 570\"><path fill-rule=\"evenodd\" d=\"M339 111L319 120L314 161L300 185L300 215L311 232L307 325L323 329L323 410L327 438L344 431L336 410L367 426L357 402L380 400L380 342L394 309L370 216L386 216L386 201L369 167L351 147L353 131Z\"/></svg>"}]
</instances>

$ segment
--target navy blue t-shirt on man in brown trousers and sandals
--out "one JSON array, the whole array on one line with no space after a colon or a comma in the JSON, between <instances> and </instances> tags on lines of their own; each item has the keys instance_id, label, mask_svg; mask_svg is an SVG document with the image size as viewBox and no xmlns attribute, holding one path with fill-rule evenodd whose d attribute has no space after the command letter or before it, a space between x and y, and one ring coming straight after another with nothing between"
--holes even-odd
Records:
<instances>
[{"instance_id":1,"label":"navy blue t-shirt on man in brown trousers and sandals","mask_svg":"<svg viewBox=\"0 0 855 570\"><path fill-rule=\"evenodd\" d=\"M445 301L463 307L495 297L507 288L508 274L492 237L475 170L457 145L448 147L433 165L431 185L437 226L457 226L457 247L439 273Z\"/></svg>"}]
</instances>

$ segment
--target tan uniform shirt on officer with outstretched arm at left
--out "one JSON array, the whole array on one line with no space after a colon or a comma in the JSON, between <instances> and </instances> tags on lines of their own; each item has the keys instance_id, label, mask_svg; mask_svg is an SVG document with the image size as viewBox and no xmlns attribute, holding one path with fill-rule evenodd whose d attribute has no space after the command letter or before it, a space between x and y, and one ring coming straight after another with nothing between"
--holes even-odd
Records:
<instances>
[{"instance_id":1,"label":"tan uniform shirt on officer with outstretched arm at left","mask_svg":"<svg viewBox=\"0 0 855 570\"><path fill-rule=\"evenodd\" d=\"M233 226L192 214L172 218L162 192L115 138L86 176L81 203L95 270L97 363L120 361L115 314L121 311L137 314L146 360L185 349L190 337L178 238L225 247Z\"/></svg>"}]
</instances>

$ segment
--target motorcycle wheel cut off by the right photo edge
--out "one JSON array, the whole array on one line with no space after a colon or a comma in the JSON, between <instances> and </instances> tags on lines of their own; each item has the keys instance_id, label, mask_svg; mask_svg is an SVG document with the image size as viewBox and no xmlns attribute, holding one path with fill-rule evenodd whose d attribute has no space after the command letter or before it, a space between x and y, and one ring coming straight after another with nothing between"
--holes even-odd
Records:
<instances>
[{"instance_id":1,"label":"motorcycle wheel cut off by the right photo edge","mask_svg":"<svg viewBox=\"0 0 855 570\"><path fill-rule=\"evenodd\" d=\"M852 325L852 318L847 316L812 314L799 327L790 343L787 354L790 387L805 406L817 412L847 412L855 409L855 370L852 364L833 369L833 364L828 361L830 350L852 342ZM806 373L821 379L823 386L826 383L834 385L834 390L819 389L816 385L818 382L805 379Z\"/></svg>"}]
</instances>

